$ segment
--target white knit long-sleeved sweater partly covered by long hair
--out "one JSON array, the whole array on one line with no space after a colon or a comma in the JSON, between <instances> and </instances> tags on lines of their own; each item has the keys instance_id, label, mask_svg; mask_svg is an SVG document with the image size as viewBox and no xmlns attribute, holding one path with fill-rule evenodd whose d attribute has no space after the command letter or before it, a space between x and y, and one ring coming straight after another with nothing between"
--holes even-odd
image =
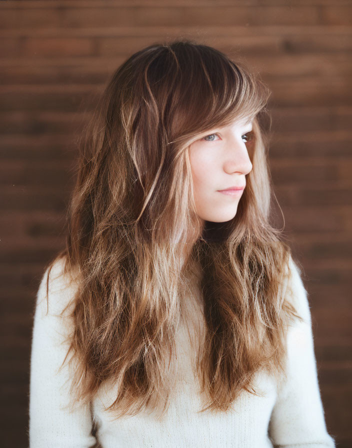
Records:
<instances>
[{"instance_id":1,"label":"white knit long-sleeved sweater partly covered by long hair","mask_svg":"<svg viewBox=\"0 0 352 448\"><path fill-rule=\"evenodd\" d=\"M192 373L193 353L185 331L177 335L179 379L166 416L158 420L146 412L113 420L103 406L114 400L112 388L101 388L90 407L69 412L71 375L58 371L68 345L62 343L69 323L58 317L72 297L72 285L59 276L62 262L50 273L49 312L46 315L46 271L37 292L32 333L29 394L30 448L322 448L335 446L326 430L314 355L307 293L300 271L290 261L293 302L305 322L287 333L286 376L277 384L257 372L255 396L243 391L227 412L197 413L203 407ZM116 395L115 395L116 396ZM91 435L92 423L95 437Z\"/></svg>"}]
</instances>

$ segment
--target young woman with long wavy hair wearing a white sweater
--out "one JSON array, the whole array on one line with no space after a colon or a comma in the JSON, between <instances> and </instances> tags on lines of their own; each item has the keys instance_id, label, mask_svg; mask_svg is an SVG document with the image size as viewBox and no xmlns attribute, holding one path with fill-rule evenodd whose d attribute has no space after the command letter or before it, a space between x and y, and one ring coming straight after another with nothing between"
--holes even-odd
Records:
<instances>
[{"instance_id":1,"label":"young woman with long wavy hair wearing a white sweater","mask_svg":"<svg viewBox=\"0 0 352 448\"><path fill-rule=\"evenodd\" d=\"M269 223L268 96L190 40L113 74L37 293L31 448L334 446L307 293Z\"/></svg>"}]
</instances>

